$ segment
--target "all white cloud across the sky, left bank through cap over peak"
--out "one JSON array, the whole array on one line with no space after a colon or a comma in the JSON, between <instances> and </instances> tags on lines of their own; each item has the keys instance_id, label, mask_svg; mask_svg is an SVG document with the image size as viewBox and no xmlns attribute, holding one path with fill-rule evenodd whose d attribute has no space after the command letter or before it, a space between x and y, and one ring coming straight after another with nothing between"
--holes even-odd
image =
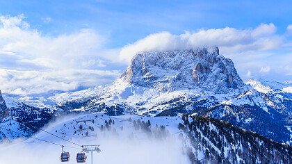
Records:
<instances>
[{"instance_id":1,"label":"all white cloud across the sky, left bank through cap over peak","mask_svg":"<svg viewBox=\"0 0 292 164\"><path fill-rule=\"evenodd\" d=\"M136 53L150 50L218 46L220 53L232 56L243 78L256 76L256 72L266 76L277 70L291 74L292 70L291 54L282 56L280 64L274 64L279 56L265 54L266 50L278 49L283 42L289 42L284 35L276 34L277 27L272 23L245 29L198 29L184 31L180 35L163 31L147 35L122 48L106 49L105 42L108 40L92 28L63 35L44 35L42 31L31 28L25 19L23 14L15 17L0 15L0 89L4 93L67 92L79 87L111 83ZM292 26L289 25L286 31L292 31ZM262 63L267 56L275 58ZM249 70L252 72L246 74Z\"/></svg>"}]
</instances>

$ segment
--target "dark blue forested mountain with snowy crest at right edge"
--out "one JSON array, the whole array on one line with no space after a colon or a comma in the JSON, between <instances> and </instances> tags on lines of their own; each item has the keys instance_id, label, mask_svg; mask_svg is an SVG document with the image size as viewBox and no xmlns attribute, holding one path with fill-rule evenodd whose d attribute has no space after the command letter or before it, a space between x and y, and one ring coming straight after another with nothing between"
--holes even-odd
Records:
<instances>
[{"instance_id":1,"label":"dark blue forested mountain with snowy crest at right edge","mask_svg":"<svg viewBox=\"0 0 292 164\"><path fill-rule=\"evenodd\" d=\"M291 83L250 79L246 84L254 89L223 101L208 115L291 144Z\"/></svg>"}]
</instances>

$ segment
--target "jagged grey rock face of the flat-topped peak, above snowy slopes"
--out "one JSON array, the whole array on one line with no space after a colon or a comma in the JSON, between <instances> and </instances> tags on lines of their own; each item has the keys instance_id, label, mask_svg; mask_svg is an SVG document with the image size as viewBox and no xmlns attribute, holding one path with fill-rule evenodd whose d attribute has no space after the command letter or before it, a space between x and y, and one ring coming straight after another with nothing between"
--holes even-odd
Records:
<instances>
[{"instance_id":1,"label":"jagged grey rock face of the flat-topped peak, above snowy slopes","mask_svg":"<svg viewBox=\"0 0 292 164\"><path fill-rule=\"evenodd\" d=\"M143 52L133 57L120 79L162 91L197 89L227 93L246 88L232 60L221 56L218 47Z\"/></svg>"}]
</instances>

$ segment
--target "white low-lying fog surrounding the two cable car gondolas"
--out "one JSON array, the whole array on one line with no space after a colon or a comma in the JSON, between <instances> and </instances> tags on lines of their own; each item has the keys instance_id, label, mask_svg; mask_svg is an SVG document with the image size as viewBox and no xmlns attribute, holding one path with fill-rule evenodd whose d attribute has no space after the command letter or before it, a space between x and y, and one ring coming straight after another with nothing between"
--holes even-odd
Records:
<instances>
[{"instance_id":1,"label":"white low-lying fog surrounding the two cable car gondolas","mask_svg":"<svg viewBox=\"0 0 292 164\"><path fill-rule=\"evenodd\" d=\"M126 126L124 126L126 127ZM98 131L95 131L98 133ZM123 133L129 133L133 136L135 133L142 133L124 128ZM186 154L183 153L182 141L178 135L168 135L165 138L147 138L147 137L120 137L111 135L110 131L101 133L98 138L79 138L74 140L79 145L100 145L101 153L93 152L94 163L190 163ZM37 135L38 136L38 135ZM46 139L48 140L48 139ZM60 141L58 138L52 142L73 148L64 148L69 151L70 161L65 163L76 163L76 154L81 151L81 147L73 145L65 140ZM0 145L0 163L9 164L51 164L61 163L60 154L62 148L33 138L21 141L16 140L10 144ZM91 155L87 153L86 163L91 163Z\"/></svg>"}]
</instances>

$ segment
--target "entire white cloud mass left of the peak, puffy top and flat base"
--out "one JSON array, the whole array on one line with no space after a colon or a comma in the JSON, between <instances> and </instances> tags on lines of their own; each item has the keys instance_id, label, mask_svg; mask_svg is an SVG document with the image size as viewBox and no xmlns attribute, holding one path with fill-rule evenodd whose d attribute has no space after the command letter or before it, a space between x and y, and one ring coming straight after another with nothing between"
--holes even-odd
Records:
<instances>
[{"instance_id":1,"label":"entire white cloud mass left of the peak, puffy top and flat base","mask_svg":"<svg viewBox=\"0 0 292 164\"><path fill-rule=\"evenodd\" d=\"M28 95L49 90L111 83L120 71L102 71L106 39L92 29L46 36L31 29L24 15L0 16L0 83L5 93ZM48 21L49 19L46 19ZM108 50L113 52L112 50ZM106 60L104 60L106 59ZM107 62L107 63L106 63Z\"/></svg>"}]
</instances>

